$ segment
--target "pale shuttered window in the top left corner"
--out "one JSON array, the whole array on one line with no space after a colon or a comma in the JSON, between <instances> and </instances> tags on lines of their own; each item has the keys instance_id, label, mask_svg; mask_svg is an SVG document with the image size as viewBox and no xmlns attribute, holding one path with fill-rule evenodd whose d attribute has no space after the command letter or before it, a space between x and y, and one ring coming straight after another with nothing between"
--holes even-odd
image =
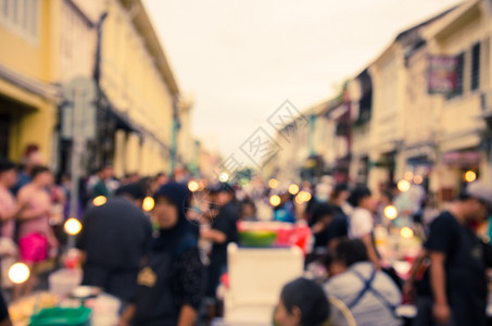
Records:
<instances>
[{"instance_id":1,"label":"pale shuttered window in the top left corner","mask_svg":"<svg viewBox=\"0 0 492 326\"><path fill-rule=\"evenodd\" d=\"M28 41L38 39L38 0L0 0L0 25Z\"/></svg>"}]
</instances>

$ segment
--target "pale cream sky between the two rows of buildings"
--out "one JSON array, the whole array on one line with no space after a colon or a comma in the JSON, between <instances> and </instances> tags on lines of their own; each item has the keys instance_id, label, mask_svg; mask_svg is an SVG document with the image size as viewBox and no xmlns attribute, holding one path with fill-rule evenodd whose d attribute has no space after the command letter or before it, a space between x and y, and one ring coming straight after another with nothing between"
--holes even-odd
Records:
<instances>
[{"instance_id":1,"label":"pale cream sky between the two rows of buildings","mask_svg":"<svg viewBox=\"0 0 492 326\"><path fill-rule=\"evenodd\" d=\"M286 100L299 111L333 97L402 30L456 0L143 0L192 133L238 152Z\"/></svg>"}]
</instances>

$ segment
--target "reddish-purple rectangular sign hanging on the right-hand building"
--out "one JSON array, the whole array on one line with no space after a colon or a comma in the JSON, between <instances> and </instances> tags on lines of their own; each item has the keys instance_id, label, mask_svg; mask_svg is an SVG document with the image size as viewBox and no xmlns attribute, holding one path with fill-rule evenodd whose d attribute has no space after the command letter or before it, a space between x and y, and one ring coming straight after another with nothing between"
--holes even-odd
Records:
<instances>
[{"instance_id":1,"label":"reddish-purple rectangular sign hanging on the right-hand building","mask_svg":"<svg viewBox=\"0 0 492 326\"><path fill-rule=\"evenodd\" d=\"M449 95L456 89L457 59L455 57L429 57L428 92Z\"/></svg>"}]
</instances>

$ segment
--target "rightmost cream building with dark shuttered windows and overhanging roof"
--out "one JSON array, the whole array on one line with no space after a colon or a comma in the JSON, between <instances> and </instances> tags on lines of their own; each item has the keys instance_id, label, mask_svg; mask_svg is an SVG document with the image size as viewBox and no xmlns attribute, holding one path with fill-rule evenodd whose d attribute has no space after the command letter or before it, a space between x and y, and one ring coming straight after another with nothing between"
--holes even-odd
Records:
<instances>
[{"instance_id":1,"label":"rightmost cream building with dark shuttered windows and overhanging roof","mask_svg":"<svg viewBox=\"0 0 492 326\"><path fill-rule=\"evenodd\" d=\"M463 189L467 171L492 183L485 123L492 109L490 12L490 1L467 1L426 34L431 55L456 60L457 85L437 103L439 164L433 187L444 197Z\"/></svg>"}]
</instances>

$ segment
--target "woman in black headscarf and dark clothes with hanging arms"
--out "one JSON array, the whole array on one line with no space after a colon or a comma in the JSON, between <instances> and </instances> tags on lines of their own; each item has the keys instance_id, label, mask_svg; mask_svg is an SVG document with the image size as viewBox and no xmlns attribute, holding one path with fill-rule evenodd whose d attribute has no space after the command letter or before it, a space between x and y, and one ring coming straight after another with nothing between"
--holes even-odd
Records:
<instances>
[{"instance_id":1,"label":"woman in black headscarf and dark clothes with hanging arms","mask_svg":"<svg viewBox=\"0 0 492 326\"><path fill-rule=\"evenodd\" d=\"M190 191L168 183L154 195L155 235L146 267L138 277L135 301L119 325L191 326L202 300L203 265L197 237L186 218Z\"/></svg>"}]
</instances>

